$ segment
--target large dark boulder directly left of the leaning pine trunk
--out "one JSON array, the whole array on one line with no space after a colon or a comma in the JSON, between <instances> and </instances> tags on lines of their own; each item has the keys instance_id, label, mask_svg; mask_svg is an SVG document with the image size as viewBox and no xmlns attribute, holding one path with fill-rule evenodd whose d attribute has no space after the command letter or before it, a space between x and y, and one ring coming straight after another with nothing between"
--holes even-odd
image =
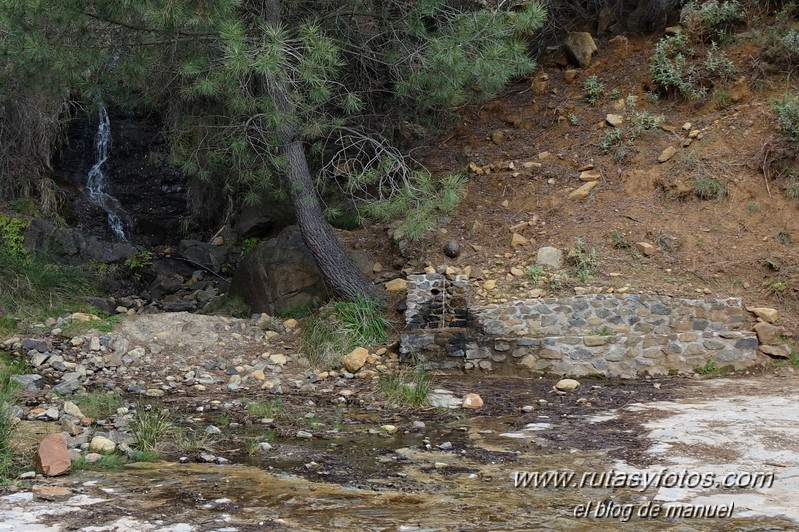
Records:
<instances>
[{"instance_id":1,"label":"large dark boulder directly left of the leaning pine trunk","mask_svg":"<svg viewBox=\"0 0 799 532\"><path fill-rule=\"evenodd\" d=\"M233 275L232 291L252 312L268 314L311 307L331 295L295 225L260 242L244 257Z\"/></svg>"}]
</instances>

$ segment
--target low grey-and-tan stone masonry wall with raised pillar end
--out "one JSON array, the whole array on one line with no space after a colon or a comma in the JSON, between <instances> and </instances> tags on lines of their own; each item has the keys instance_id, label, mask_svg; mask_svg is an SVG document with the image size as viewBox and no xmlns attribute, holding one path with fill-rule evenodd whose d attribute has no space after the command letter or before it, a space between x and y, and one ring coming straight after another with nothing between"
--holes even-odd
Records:
<instances>
[{"instance_id":1,"label":"low grey-and-tan stone masonry wall with raised pillar end","mask_svg":"<svg viewBox=\"0 0 799 532\"><path fill-rule=\"evenodd\" d=\"M408 278L400 349L427 367L634 378L691 372L708 361L734 369L758 362L757 337L743 330L746 315L738 298L600 294L516 300L463 308L457 312L463 326L436 327L418 316L430 290L442 293L442 277Z\"/></svg>"}]
</instances>

